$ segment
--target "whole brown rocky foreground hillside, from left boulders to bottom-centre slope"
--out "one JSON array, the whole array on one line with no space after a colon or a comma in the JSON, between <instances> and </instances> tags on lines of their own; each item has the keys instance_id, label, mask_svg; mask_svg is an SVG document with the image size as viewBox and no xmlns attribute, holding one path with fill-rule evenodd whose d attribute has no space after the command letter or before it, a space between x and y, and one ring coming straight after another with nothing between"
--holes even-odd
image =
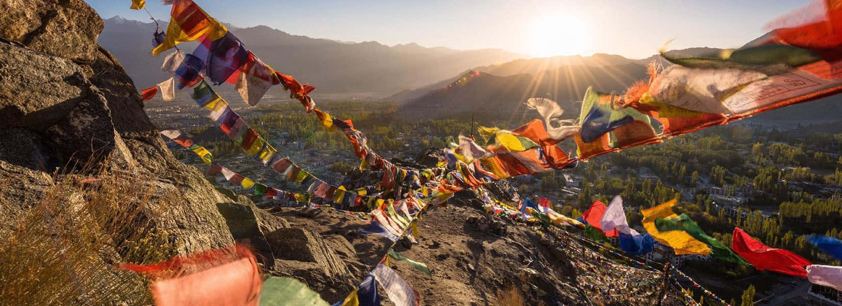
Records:
<instances>
[{"instance_id":1,"label":"whole brown rocky foreground hillside, from left boulders to bottom-centre slope","mask_svg":"<svg viewBox=\"0 0 842 306\"><path fill-rule=\"evenodd\" d=\"M148 297L125 291L143 292L143 282L115 264L235 240L252 245L271 274L297 277L335 302L386 253L389 241L359 235L364 224L352 215L258 208L177 161L120 62L97 45L103 23L88 4L0 0L0 11L0 304L148 304ZM80 183L65 185L67 177ZM480 207L472 193L461 193L429 211L419 245L397 247L434 270L426 277L395 264L423 304L625 305L658 298L657 272L610 263L557 232L487 219ZM137 233L112 231L125 219L157 234L134 240ZM97 244L74 248L91 241ZM653 285L635 288L631 279ZM126 287L130 281L134 287ZM665 302L678 303L672 293Z\"/></svg>"}]
</instances>

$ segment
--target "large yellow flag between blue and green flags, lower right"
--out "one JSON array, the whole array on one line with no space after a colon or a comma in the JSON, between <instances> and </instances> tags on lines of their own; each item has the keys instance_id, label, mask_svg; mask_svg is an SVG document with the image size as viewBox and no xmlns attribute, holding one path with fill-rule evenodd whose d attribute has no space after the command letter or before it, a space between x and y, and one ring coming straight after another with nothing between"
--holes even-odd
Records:
<instances>
[{"instance_id":1,"label":"large yellow flag between blue and green flags, lower right","mask_svg":"<svg viewBox=\"0 0 842 306\"><path fill-rule=\"evenodd\" d=\"M687 255L687 254L698 254L698 255L708 255L711 254L711 248L708 247L705 243L696 240L690 234L683 230L668 230L668 231L658 231L658 228L655 227L655 219L658 218L678 218L679 216L673 212L673 207L675 203L678 203L678 200L671 200L667 203L660 204L653 208L643 209L641 212L643 213L643 228L646 229L649 235L652 235L655 240L662 243L663 245L669 245L675 250L675 255Z\"/></svg>"}]
</instances>

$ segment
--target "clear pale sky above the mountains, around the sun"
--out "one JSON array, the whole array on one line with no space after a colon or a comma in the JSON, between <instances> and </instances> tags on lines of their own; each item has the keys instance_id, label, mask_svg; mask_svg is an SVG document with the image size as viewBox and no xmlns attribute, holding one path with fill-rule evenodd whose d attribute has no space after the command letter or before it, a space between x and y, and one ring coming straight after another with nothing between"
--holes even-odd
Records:
<instances>
[{"instance_id":1,"label":"clear pale sky above the mountains, around the sun","mask_svg":"<svg viewBox=\"0 0 842 306\"><path fill-rule=\"evenodd\" d=\"M86 0L103 18L148 21L130 0ZM808 0L195 0L239 27L268 25L290 34L384 45L410 42L469 50L500 48L533 56L619 54L643 58L669 47L738 47L770 20ZM155 18L169 8L147 0Z\"/></svg>"}]
</instances>

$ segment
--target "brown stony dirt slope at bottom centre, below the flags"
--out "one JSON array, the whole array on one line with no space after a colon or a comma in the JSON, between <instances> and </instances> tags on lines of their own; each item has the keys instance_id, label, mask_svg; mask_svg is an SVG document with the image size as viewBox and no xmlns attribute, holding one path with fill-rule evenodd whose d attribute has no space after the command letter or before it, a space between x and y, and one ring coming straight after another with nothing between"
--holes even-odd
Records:
<instances>
[{"instance_id":1,"label":"brown stony dirt slope at bottom centre, below the flags","mask_svg":"<svg viewBox=\"0 0 842 306\"><path fill-rule=\"evenodd\" d=\"M391 267L420 295L422 305L655 305L663 273L616 263L592 245L557 230L495 219L488 226L473 193L463 192L445 207L431 207L419 221L418 244L399 241L394 249L424 262L432 276L406 263ZM320 235L348 267L342 286L323 286L317 275L303 278L328 303L347 296L392 245L380 235L361 235L365 221L329 208L272 208L292 228ZM552 233L551 233L552 232ZM273 274L284 275L283 271ZM296 275L293 275L296 277ZM334 277L337 276L323 276ZM340 276L341 277L341 276ZM662 305L683 305L666 290ZM386 293L380 288L384 304Z\"/></svg>"}]
</instances>

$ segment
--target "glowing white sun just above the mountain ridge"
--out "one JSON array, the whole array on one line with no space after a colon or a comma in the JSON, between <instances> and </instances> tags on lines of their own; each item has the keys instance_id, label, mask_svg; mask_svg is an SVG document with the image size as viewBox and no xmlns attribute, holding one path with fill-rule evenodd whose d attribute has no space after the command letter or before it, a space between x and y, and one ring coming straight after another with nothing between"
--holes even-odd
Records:
<instances>
[{"instance_id":1,"label":"glowing white sun just above the mountain ridge","mask_svg":"<svg viewBox=\"0 0 842 306\"><path fill-rule=\"evenodd\" d=\"M532 24L530 41L530 53L538 57L581 55L588 46L588 33L578 18L541 18Z\"/></svg>"}]
</instances>

